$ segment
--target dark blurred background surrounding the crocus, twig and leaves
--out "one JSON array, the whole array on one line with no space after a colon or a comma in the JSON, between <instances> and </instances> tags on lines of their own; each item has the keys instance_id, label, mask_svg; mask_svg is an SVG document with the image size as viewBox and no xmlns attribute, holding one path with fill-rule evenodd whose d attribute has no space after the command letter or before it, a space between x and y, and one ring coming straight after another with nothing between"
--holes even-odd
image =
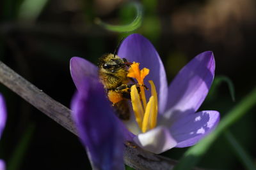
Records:
<instances>
[{"instance_id":1,"label":"dark blurred background surrounding the crocus, twig and leaves","mask_svg":"<svg viewBox=\"0 0 256 170\"><path fill-rule=\"evenodd\" d=\"M143 23L134 31L152 41L166 67L168 81L190 59L212 50L216 76L228 76L236 88L233 102L221 84L202 108L221 117L255 87L256 6L254 0L145 0ZM0 59L56 101L69 107L75 92L69 60L84 57L97 64L114 52L127 34L94 24L129 24L135 16L123 0L2 0L0 1ZM128 34L131 34L129 32ZM83 146L74 134L56 124L0 85L8 106L0 158L8 169L90 169ZM255 108L230 131L252 156L255 149ZM164 153L180 159L187 148ZM229 143L220 136L198 164L209 169L244 169Z\"/></svg>"}]
</instances>

